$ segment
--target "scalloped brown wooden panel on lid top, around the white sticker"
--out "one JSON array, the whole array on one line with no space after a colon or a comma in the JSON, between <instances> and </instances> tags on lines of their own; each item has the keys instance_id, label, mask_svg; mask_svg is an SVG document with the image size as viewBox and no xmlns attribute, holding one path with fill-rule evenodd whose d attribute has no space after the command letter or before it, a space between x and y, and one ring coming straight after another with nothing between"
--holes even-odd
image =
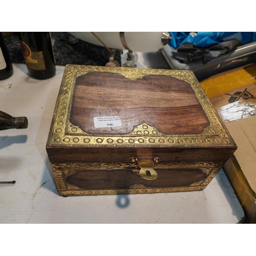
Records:
<instances>
[{"instance_id":1,"label":"scalloped brown wooden panel on lid top, around the white sticker","mask_svg":"<svg viewBox=\"0 0 256 256\"><path fill-rule=\"evenodd\" d=\"M95 128L94 117L119 116L122 126ZM70 121L90 134L127 134L145 121L163 134L200 134L209 126L190 85L171 76L133 81L120 74L77 77Z\"/></svg>"}]
</instances>

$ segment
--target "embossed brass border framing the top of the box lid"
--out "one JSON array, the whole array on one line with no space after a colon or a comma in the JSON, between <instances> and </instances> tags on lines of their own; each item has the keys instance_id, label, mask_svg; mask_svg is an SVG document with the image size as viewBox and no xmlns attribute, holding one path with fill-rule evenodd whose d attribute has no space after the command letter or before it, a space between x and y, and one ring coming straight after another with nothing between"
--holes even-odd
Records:
<instances>
[{"instance_id":1,"label":"embossed brass border framing the top of the box lid","mask_svg":"<svg viewBox=\"0 0 256 256\"><path fill-rule=\"evenodd\" d=\"M83 132L79 126L73 125L70 118L73 91L76 77L89 72L108 72L121 74L126 78L137 80L145 75L166 75L186 81L194 90L210 125L199 135L164 135L153 126L143 122L125 135L91 135ZM94 66L67 65L63 74L59 95L57 98L53 121L47 141L47 146L235 146L225 125L220 120L205 95L194 73L191 71L107 68Z\"/></svg>"}]
</instances>

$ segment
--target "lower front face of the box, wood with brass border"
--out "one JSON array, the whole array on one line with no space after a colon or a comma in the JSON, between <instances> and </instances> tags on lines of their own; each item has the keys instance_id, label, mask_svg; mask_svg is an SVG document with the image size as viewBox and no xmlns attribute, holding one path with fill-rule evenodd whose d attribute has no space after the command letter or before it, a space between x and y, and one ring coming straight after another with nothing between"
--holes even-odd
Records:
<instances>
[{"instance_id":1,"label":"lower front face of the box, wood with brass border","mask_svg":"<svg viewBox=\"0 0 256 256\"><path fill-rule=\"evenodd\" d=\"M52 163L61 196L147 194L204 189L223 162L161 162L157 178L142 178L137 162Z\"/></svg>"}]
</instances>

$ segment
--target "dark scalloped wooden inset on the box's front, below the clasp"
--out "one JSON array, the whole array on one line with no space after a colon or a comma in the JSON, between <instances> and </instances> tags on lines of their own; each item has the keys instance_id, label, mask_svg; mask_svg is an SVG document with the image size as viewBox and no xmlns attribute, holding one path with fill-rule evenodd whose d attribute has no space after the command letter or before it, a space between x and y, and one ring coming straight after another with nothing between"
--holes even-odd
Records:
<instances>
[{"instance_id":1,"label":"dark scalloped wooden inset on the box's front, below the clasp","mask_svg":"<svg viewBox=\"0 0 256 256\"><path fill-rule=\"evenodd\" d=\"M189 186L202 181L206 174L200 169L155 169L156 180L144 180L129 169L81 170L67 177L66 181L84 189L115 189L129 188L139 183L145 187Z\"/></svg>"}]
</instances>

